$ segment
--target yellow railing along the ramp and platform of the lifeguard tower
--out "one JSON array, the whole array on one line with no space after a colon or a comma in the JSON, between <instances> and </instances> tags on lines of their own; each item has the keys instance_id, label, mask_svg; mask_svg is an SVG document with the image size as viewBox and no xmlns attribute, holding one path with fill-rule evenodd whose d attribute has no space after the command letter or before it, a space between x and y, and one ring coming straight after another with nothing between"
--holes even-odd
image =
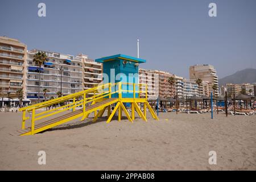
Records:
<instances>
[{"instance_id":1,"label":"yellow railing along the ramp and platform of the lifeguard tower","mask_svg":"<svg viewBox=\"0 0 256 182\"><path fill-rule=\"evenodd\" d=\"M132 86L131 89L122 89L125 86ZM112 88L115 87L113 90ZM143 90L144 89L144 90ZM92 94L93 96L88 96L88 94ZM72 109L75 111L76 107L81 106L83 113L85 113L86 105L95 104L96 101L99 101L104 98L112 98L112 95L117 93L119 100L122 99L123 93L133 93L133 98L135 99L136 93L138 93L138 98L142 98L142 94L144 94L143 98L147 100L147 85L146 84L133 84L133 83L125 83L125 82L117 82L114 84L102 84L98 85L94 88L90 88L87 90L83 90L81 92L69 94L68 96L63 96L59 98L55 98L53 100L40 102L38 104L34 104L27 107L22 107L19 111L23 111L22 115L22 129L25 129L25 122L28 119L31 119L31 132L35 130L35 121L38 121L43 118L47 118L51 115L55 115L61 113L63 111ZM116 96L115 96L116 97ZM67 103L68 102L68 103ZM64 104L64 105L60 105ZM52 107L51 107L52 106ZM55 106L55 108L53 108ZM36 110L42 109L46 107L46 110L41 111L40 113L36 113ZM48 110L47 110L48 108ZM26 112L31 113L31 117L26 117Z\"/></svg>"}]
</instances>

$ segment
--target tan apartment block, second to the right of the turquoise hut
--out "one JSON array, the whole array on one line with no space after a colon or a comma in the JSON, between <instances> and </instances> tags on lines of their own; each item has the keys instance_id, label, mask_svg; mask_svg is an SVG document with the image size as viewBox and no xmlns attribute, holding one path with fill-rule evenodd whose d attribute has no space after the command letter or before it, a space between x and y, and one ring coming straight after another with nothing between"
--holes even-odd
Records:
<instances>
[{"instance_id":1,"label":"tan apartment block, second to the right of the turquoise hut","mask_svg":"<svg viewBox=\"0 0 256 182\"><path fill-rule=\"evenodd\" d=\"M151 73L158 74L159 82L158 82L158 88L159 88L159 97L169 98L175 97L175 84L170 84L168 82L168 78L174 77L173 74L169 72L164 71L158 71L158 70L152 70Z\"/></svg>"}]
</instances>

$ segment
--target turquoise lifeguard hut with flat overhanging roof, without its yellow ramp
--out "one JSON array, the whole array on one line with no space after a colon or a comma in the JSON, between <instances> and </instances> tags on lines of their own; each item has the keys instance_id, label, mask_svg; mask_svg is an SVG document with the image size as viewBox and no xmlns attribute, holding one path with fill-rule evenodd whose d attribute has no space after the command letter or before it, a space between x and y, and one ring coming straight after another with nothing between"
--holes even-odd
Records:
<instances>
[{"instance_id":1,"label":"turquoise lifeguard hut with flat overhanging roof, without its yellow ramp","mask_svg":"<svg viewBox=\"0 0 256 182\"><path fill-rule=\"evenodd\" d=\"M139 64L146 63L146 60L118 54L102 57L95 61L103 64L104 84L110 82L112 84L117 82L128 83L122 85L122 90L127 90L127 92L122 93L122 97L133 98L133 84L138 84L139 80ZM138 89L136 88L136 91ZM112 90L118 90L118 88L112 88ZM135 96L138 97L138 93ZM118 97L118 93L113 94L112 97Z\"/></svg>"}]
</instances>

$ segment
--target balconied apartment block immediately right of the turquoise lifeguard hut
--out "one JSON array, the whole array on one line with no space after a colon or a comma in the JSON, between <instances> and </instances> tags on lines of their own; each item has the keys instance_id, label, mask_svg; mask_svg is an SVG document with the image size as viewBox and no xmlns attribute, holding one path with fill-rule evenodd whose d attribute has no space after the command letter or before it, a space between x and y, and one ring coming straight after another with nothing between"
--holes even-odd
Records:
<instances>
[{"instance_id":1,"label":"balconied apartment block immediately right of the turquoise lifeguard hut","mask_svg":"<svg viewBox=\"0 0 256 182\"><path fill-rule=\"evenodd\" d=\"M147 84L147 97L148 100L156 100L159 96L159 76L147 69L139 69L139 83ZM142 88L144 91L144 88ZM142 93L144 96L144 93Z\"/></svg>"}]
</instances>

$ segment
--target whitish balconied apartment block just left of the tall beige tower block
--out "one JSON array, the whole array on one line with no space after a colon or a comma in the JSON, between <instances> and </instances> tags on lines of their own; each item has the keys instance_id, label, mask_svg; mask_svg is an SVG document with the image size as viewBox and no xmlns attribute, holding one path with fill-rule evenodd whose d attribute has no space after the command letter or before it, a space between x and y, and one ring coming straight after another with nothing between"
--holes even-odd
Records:
<instances>
[{"instance_id":1,"label":"whitish balconied apartment block just left of the tall beige tower block","mask_svg":"<svg viewBox=\"0 0 256 182\"><path fill-rule=\"evenodd\" d=\"M183 94L184 97L187 96L188 98L199 96L199 86L196 84L195 80L184 79Z\"/></svg>"}]
</instances>

